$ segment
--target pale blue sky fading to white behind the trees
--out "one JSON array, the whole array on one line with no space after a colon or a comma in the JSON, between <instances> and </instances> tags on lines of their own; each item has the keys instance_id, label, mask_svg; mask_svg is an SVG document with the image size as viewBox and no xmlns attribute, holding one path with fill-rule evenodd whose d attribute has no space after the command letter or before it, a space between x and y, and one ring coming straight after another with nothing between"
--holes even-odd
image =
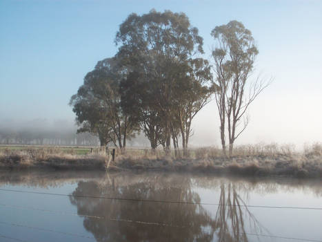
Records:
<instances>
[{"instance_id":1,"label":"pale blue sky fading to white behind the trees","mask_svg":"<svg viewBox=\"0 0 322 242\"><path fill-rule=\"evenodd\" d=\"M117 52L119 25L131 12L152 8L185 12L204 38L205 58L215 26L236 19L252 31L257 73L274 82L251 107L240 142L322 140L322 1L317 0L1 0L0 121L74 120L70 96L97 61ZM217 143L218 127L210 103L194 122L194 140Z\"/></svg>"}]
</instances>

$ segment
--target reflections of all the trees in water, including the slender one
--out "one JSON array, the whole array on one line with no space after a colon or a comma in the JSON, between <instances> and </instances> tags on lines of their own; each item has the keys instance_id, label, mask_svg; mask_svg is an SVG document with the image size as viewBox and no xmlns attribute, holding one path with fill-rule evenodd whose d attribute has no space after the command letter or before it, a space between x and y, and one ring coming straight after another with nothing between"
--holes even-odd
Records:
<instances>
[{"instance_id":1,"label":"reflections of all the trees in water, including the slender one","mask_svg":"<svg viewBox=\"0 0 322 242\"><path fill-rule=\"evenodd\" d=\"M81 181L70 197L80 216L91 216L84 216L83 225L97 241L248 241L245 216L253 223L254 230L260 228L248 208L239 207L245 203L232 183L220 185L214 217L198 204L85 197L201 202L199 194L191 188L191 179L185 176L148 176L130 183L125 180L130 179Z\"/></svg>"}]
</instances>

